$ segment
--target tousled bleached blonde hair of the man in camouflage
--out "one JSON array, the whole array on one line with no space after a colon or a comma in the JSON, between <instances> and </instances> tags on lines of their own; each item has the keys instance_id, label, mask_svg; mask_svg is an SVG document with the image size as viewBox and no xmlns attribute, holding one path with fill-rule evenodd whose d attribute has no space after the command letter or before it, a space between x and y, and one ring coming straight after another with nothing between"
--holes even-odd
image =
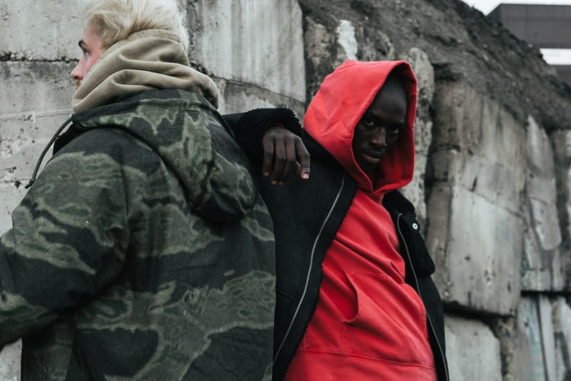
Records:
<instances>
[{"instance_id":1,"label":"tousled bleached blonde hair of the man in camouflage","mask_svg":"<svg viewBox=\"0 0 571 381\"><path fill-rule=\"evenodd\" d=\"M93 28L108 49L129 34L163 29L178 35L188 54L188 31L176 0L89 0L84 7L84 29Z\"/></svg>"}]
</instances>

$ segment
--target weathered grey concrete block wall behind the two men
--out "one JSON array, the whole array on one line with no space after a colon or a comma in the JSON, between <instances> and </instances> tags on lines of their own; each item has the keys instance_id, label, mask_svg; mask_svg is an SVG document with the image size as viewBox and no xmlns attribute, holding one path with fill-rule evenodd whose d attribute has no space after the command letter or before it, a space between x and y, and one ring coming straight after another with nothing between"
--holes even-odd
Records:
<instances>
[{"instance_id":1,"label":"weathered grey concrete block wall behind the two men","mask_svg":"<svg viewBox=\"0 0 571 381\"><path fill-rule=\"evenodd\" d=\"M405 193L438 266L452 380L570 380L571 131L506 108L462 76L437 76L435 68L454 70L453 59L420 48L423 36L418 46L396 41L358 1L299 2L180 1L189 58L216 81L220 110L285 105L302 116L345 59L410 61L417 161ZM80 34L70 9L76 1L0 0L0 232L70 113ZM1 352L0 380L18 380L19 350Z\"/></svg>"}]
</instances>

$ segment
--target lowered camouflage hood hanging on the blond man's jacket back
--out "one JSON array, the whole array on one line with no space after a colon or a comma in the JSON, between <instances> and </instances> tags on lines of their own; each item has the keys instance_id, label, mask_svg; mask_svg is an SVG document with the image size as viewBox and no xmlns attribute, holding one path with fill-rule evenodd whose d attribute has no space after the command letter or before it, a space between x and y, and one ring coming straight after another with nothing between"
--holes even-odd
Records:
<instances>
[{"instance_id":1,"label":"lowered camouflage hood hanging on the blond man's jacket back","mask_svg":"<svg viewBox=\"0 0 571 381\"><path fill-rule=\"evenodd\" d=\"M200 94L144 91L72 116L74 130L119 128L161 156L181 182L193 211L207 220L236 220L256 201L246 158L216 108Z\"/></svg>"}]
</instances>

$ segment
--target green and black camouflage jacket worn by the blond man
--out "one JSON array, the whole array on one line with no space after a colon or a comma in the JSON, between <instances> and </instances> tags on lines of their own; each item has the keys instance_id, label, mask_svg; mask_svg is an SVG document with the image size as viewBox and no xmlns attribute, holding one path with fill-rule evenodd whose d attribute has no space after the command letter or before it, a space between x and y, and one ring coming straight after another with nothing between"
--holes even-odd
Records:
<instances>
[{"instance_id":1,"label":"green and black camouflage jacket worn by the blond man","mask_svg":"<svg viewBox=\"0 0 571 381\"><path fill-rule=\"evenodd\" d=\"M23 380L269 380L271 218L195 93L74 115L0 239L0 348Z\"/></svg>"}]
</instances>

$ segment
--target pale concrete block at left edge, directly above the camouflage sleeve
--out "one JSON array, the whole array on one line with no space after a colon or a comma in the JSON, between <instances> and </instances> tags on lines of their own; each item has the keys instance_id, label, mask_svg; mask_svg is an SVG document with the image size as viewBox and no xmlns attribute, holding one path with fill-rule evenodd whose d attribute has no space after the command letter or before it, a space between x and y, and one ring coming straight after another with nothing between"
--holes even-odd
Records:
<instances>
[{"instance_id":1,"label":"pale concrete block at left edge, directly above the camouflage sleeve","mask_svg":"<svg viewBox=\"0 0 571 381\"><path fill-rule=\"evenodd\" d=\"M0 62L1 233L11 226L11 211L24 196L41 150L71 114L75 88L69 73L73 66Z\"/></svg>"}]
</instances>

